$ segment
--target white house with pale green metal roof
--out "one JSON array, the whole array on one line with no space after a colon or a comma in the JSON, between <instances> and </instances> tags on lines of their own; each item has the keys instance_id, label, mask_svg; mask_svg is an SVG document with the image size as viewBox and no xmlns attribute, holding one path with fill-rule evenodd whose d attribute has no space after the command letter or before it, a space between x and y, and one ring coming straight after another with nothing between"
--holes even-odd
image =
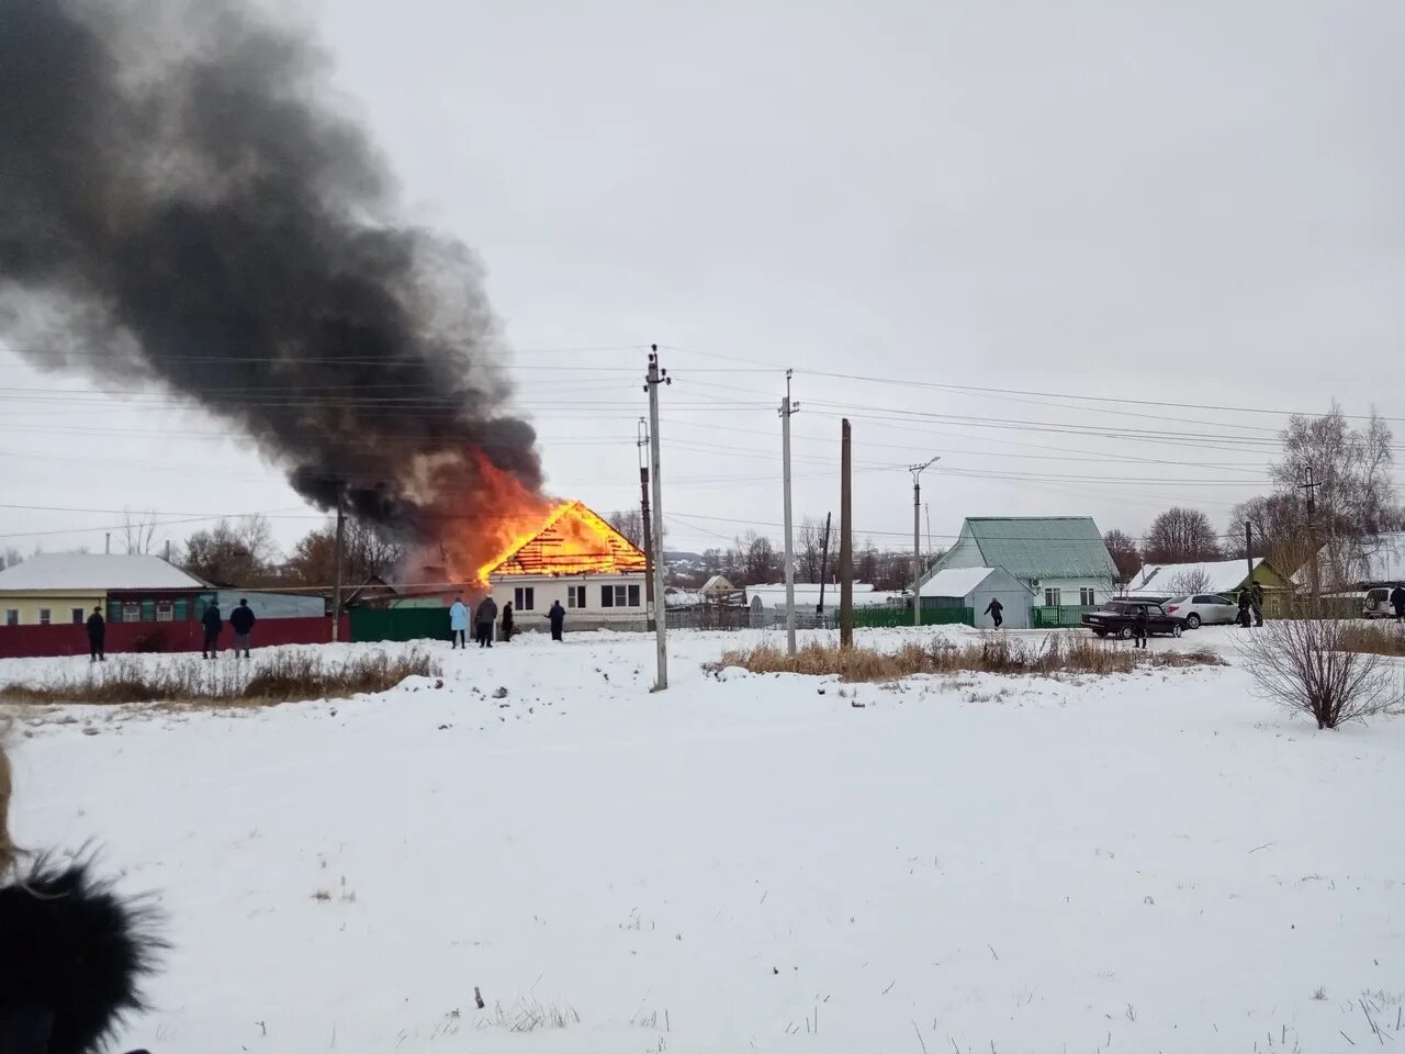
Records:
<instances>
[{"instance_id":1,"label":"white house with pale green metal roof","mask_svg":"<svg viewBox=\"0 0 1405 1054\"><path fill-rule=\"evenodd\" d=\"M968 516L923 582L951 568L1003 568L1033 607L1092 607L1114 596L1117 566L1090 516Z\"/></svg>"}]
</instances>

